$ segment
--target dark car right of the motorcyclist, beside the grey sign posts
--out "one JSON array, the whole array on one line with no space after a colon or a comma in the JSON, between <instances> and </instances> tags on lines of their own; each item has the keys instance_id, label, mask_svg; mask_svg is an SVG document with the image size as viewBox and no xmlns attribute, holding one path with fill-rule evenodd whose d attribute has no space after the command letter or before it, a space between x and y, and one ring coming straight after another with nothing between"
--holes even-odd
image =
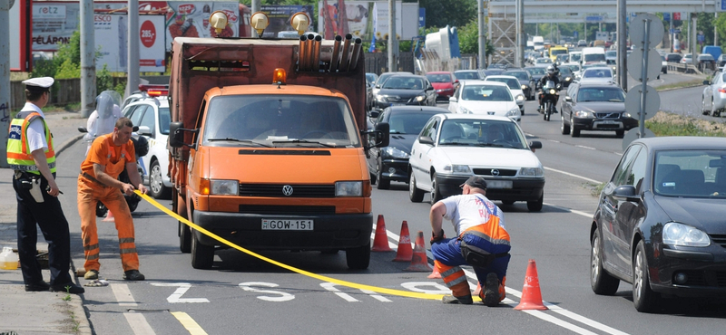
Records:
<instances>
[{"instance_id":1,"label":"dark car right of the motorcyclist, beside the grey sign posts","mask_svg":"<svg viewBox=\"0 0 726 335\"><path fill-rule=\"evenodd\" d=\"M625 92L619 86L575 82L567 89L562 102L563 135L576 138L580 130L603 130L622 138L635 127L638 120L625 110Z\"/></svg>"}]
</instances>

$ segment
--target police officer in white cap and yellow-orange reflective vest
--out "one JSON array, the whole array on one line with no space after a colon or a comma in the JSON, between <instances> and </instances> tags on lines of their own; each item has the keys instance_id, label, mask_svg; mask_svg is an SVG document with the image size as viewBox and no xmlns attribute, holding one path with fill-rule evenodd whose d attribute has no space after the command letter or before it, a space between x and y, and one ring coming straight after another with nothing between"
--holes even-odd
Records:
<instances>
[{"instance_id":1,"label":"police officer in white cap and yellow-orange reflective vest","mask_svg":"<svg viewBox=\"0 0 726 335\"><path fill-rule=\"evenodd\" d=\"M50 99L53 78L33 78L25 83L25 107L10 122L7 163L15 170L13 188L17 198L17 249L25 291L83 293L69 273L71 237L65 220L61 193L55 183L55 151L51 130L43 111ZM48 243L50 284L44 282L40 263L35 258L37 228Z\"/></svg>"}]
</instances>

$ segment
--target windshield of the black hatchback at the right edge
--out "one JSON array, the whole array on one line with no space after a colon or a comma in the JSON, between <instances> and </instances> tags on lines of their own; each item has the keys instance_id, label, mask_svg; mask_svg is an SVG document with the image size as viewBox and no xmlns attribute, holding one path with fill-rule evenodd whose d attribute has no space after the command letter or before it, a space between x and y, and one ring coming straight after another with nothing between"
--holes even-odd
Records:
<instances>
[{"instance_id":1,"label":"windshield of the black hatchback at the right edge","mask_svg":"<svg viewBox=\"0 0 726 335\"><path fill-rule=\"evenodd\" d=\"M653 166L656 195L726 198L726 150L662 150Z\"/></svg>"}]
</instances>

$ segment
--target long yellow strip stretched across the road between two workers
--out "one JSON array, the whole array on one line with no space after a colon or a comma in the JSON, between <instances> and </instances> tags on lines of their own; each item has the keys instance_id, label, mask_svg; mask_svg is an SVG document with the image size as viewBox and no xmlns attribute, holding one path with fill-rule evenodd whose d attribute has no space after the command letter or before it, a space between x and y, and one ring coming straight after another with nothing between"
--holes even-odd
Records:
<instances>
[{"instance_id":1,"label":"long yellow strip stretched across the road between two workers","mask_svg":"<svg viewBox=\"0 0 726 335\"><path fill-rule=\"evenodd\" d=\"M401 297L407 297L407 298L428 299L428 300L441 300L441 298L444 296L443 294L430 294L430 293L421 293L421 292L408 292L408 291L401 291L401 290L386 289L386 288L378 287L378 286L364 285L364 284L359 284L359 283L356 283L356 282L341 281L339 279L331 278L331 277L324 276L324 275L320 275L320 274L317 274L317 273L309 273L309 272L307 272L305 270L300 270L300 269L298 269L296 267L289 266L288 264L284 264L284 263L280 263L280 262L274 261L274 260L272 260L270 258L267 258L267 257L261 255L261 254L255 254L255 253L251 252L250 250L247 250L247 249L241 247L240 245L233 244L230 241L227 241L226 239L221 238L218 235L214 235L210 231L202 228L201 226L195 225L191 221L189 221L189 220L183 218L182 216L180 216L180 215L172 212L172 210L170 210L169 208L166 208L166 207L162 206L161 204L159 204L158 202L156 202L156 200L152 199L151 196L144 195L141 192L139 192L138 190L135 190L134 192L137 195L141 196L144 200L148 201L153 206L161 209L164 213L166 213L166 214L172 216L173 218L179 220L180 222L184 223L184 225L189 225L190 227L192 227L192 228L200 231L201 234L210 236L211 238L213 238L213 239L221 242L222 244L229 245L230 247L235 248L235 249L239 250L242 253L249 254L251 256L257 257L257 258L259 258L262 261L275 264L277 266L280 266L281 268L288 269L289 271L292 271L294 273L303 274L303 275L306 275L306 276L308 276L310 278L315 278L315 279L318 279L318 280L323 281L323 282L333 282L333 283L337 283L338 285L348 286L348 287L351 287L351 288L354 288L354 289L358 289L358 290L368 290L368 291L373 291L373 292L378 292L378 293L383 293L383 294L389 294L389 295L397 295L397 296L401 296Z\"/></svg>"}]
</instances>

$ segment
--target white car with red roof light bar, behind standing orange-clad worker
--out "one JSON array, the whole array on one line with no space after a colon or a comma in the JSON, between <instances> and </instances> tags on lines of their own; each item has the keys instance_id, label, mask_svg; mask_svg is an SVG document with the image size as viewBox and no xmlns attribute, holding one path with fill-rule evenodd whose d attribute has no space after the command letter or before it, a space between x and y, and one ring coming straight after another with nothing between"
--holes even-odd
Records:
<instances>
[{"instance_id":1,"label":"white car with red roof light bar, behind standing orange-clad worker","mask_svg":"<svg viewBox=\"0 0 726 335\"><path fill-rule=\"evenodd\" d=\"M149 141L149 153L140 159L145 179L143 182L149 185L149 195L157 199L169 198L172 193L172 181L168 173L169 150L166 148L172 119L167 94L165 90L157 90L123 109L123 116L131 119L134 126L139 126L138 134Z\"/></svg>"}]
</instances>

